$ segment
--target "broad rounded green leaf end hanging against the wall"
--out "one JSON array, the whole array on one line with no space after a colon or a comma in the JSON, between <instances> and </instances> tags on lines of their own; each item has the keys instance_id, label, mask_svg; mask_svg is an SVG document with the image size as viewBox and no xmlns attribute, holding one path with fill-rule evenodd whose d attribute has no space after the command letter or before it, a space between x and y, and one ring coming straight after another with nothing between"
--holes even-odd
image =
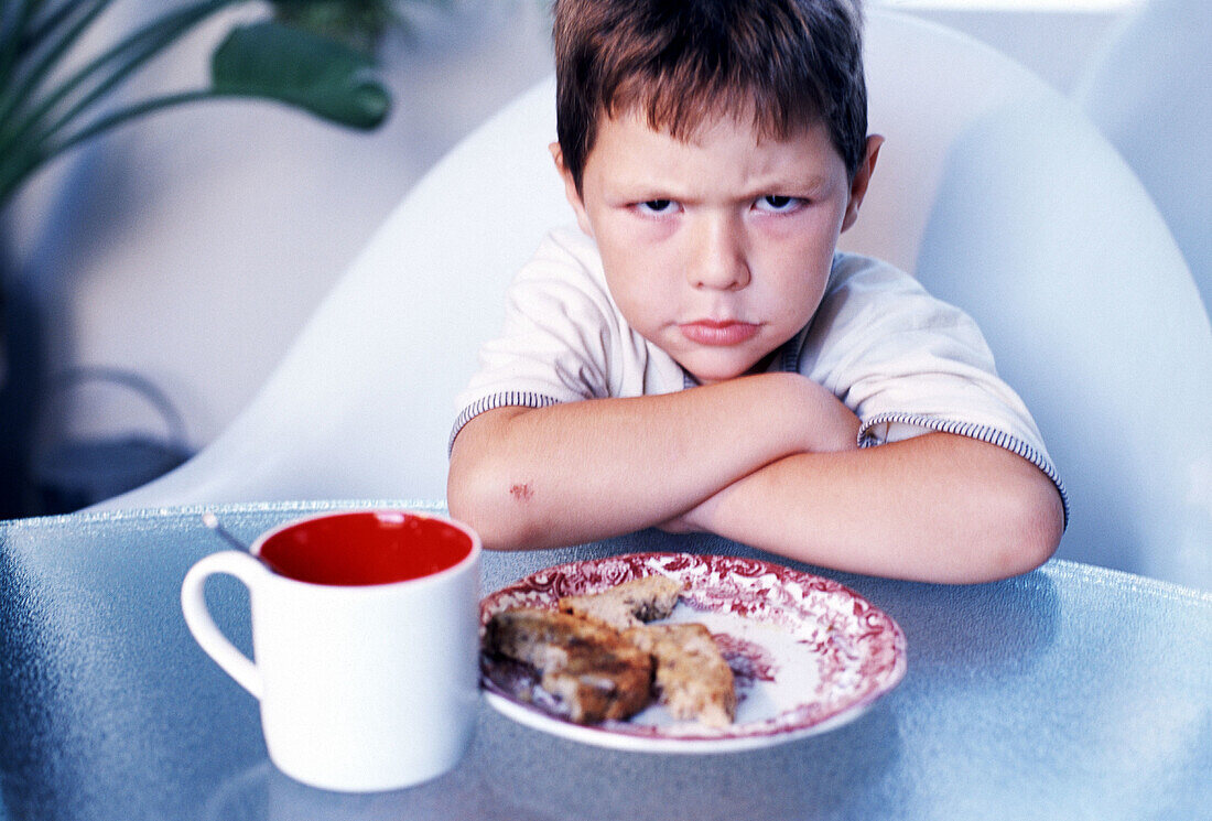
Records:
<instances>
[{"instance_id":1,"label":"broad rounded green leaf end hanging against the wall","mask_svg":"<svg viewBox=\"0 0 1212 821\"><path fill-rule=\"evenodd\" d=\"M378 126L391 107L373 59L278 22L234 29L211 61L216 95L259 97L355 129Z\"/></svg>"}]
</instances>

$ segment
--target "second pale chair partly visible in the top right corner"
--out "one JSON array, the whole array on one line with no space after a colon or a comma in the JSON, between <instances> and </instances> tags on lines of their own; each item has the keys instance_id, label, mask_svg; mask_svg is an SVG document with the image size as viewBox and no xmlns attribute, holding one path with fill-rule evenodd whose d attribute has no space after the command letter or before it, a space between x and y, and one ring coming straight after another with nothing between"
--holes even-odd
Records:
<instances>
[{"instance_id":1,"label":"second pale chair partly visible in the top right corner","mask_svg":"<svg viewBox=\"0 0 1212 821\"><path fill-rule=\"evenodd\" d=\"M1145 2L1074 95L1140 177L1212 310L1212 4Z\"/></svg>"}]
</instances>

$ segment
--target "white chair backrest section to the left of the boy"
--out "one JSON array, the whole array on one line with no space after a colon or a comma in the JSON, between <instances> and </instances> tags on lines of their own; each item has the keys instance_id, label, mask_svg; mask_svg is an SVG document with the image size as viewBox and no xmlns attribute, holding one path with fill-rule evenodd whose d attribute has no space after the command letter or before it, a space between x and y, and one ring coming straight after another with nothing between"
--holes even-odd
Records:
<instances>
[{"instance_id":1,"label":"white chair backrest section to the left of the boy","mask_svg":"<svg viewBox=\"0 0 1212 821\"><path fill-rule=\"evenodd\" d=\"M547 80L456 146L388 216L250 406L178 471L98 507L446 496L454 394L513 273L573 221Z\"/></svg>"}]
</instances>

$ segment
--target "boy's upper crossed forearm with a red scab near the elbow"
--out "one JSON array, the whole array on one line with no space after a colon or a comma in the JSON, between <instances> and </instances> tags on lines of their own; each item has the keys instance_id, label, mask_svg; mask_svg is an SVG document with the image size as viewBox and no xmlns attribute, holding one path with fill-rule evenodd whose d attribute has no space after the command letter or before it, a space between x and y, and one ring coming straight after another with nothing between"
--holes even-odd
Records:
<instances>
[{"instance_id":1,"label":"boy's upper crossed forearm with a red scab near the elbow","mask_svg":"<svg viewBox=\"0 0 1212 821\"><path fill-rule=\"evenodd\" d=\"M787 455L854 447L857 431L794 374L499 409L459 433L447 498L488 547L571 545L664 521Z\"/></svg>"}]
</instances>

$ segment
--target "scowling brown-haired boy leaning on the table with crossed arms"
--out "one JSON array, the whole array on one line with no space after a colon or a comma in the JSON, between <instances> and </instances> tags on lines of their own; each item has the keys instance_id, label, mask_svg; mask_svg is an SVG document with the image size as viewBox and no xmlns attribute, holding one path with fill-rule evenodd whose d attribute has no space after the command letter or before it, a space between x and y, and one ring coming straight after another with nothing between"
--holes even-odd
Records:
<instances>
[{"instance_id":1,"label":"scowling brown-haired boy leaning on the table with crossed arms","mask_svg":"<svg viewBox=\"0 0 1212 821\"><path fill-rule=\"evenodd\" d=\"M459 398L450 511L486 547L658 526L939 582L1053 553L1063 490L972 321L835 251L882 142L859 15L556 0L581 232L519 273Z\"/></svg>"}]
</instances>

